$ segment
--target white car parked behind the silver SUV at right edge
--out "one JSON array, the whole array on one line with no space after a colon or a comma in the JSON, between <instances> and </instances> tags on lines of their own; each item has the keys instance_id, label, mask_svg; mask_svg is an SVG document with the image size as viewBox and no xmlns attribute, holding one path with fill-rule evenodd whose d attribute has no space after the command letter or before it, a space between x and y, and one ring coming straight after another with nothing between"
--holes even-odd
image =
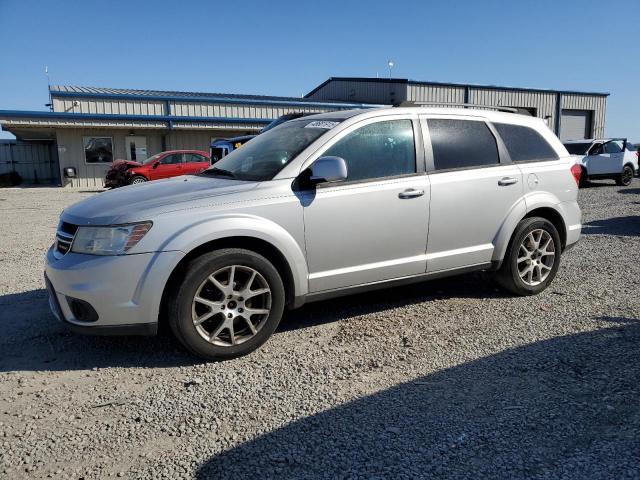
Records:
<instances>
[{"instance_id":1,"label":"white car parked behind the silver SUV at right edge","mask_svg":"<svg viewBox=\"0 0 640 480\"><path fill-rule=\"evenodd\" d=\"M582 168L582 185L601 178L629 185L638 171L638 151L626 138L571 140L564 146Z\"/></svg>"}]
</instances>

